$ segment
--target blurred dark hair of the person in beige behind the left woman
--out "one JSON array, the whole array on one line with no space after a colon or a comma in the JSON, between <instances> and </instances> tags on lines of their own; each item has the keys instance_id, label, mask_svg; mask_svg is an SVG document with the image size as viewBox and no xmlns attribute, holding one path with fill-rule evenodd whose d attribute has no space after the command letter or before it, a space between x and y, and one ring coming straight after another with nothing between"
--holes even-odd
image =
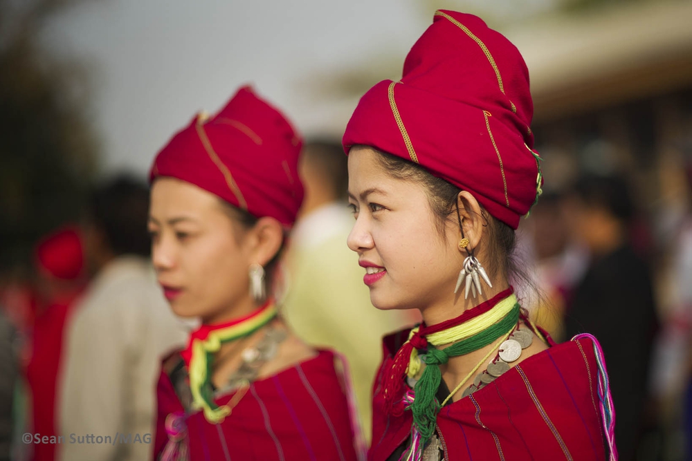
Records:
<instances>
[{"instance_id":1,"label":"blurred dark hair of the person in beige behind the left woman","mask_svg":"<svg viewBox=\"0 0 692 461\"><path fill-rule=\"evenodd\" d=\"M149 256L148 218L149 188L144 182L120 175L91 191L87 219L103 232L116 256Z\"/></svg>"}]
</instances>

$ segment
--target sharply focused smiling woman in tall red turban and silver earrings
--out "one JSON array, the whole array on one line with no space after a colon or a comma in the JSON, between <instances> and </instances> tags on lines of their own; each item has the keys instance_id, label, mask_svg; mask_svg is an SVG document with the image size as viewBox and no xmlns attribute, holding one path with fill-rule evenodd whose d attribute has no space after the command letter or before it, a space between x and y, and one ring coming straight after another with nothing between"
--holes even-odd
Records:
<instances>
[{"instance_id":1,"label":"sharply focused smiling woman in tall red turban and silver earrings","mask_svg":"<svg viewBox=\"0 0 692 461\"><path fill-rule=\"evenodd\" d=\"M349 121L348 245L376 308L424 319L383 341L371 460L617 459L598 342L554 344L510 285L543 183L532 115L516 47L438 11Z\"/></svg>"}]
</instances>

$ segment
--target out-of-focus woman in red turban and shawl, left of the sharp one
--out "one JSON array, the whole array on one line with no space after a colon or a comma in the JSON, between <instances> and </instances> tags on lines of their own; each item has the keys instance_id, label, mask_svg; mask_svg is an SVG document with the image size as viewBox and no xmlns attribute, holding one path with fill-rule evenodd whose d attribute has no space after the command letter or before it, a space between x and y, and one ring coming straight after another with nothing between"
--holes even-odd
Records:
<instances>
[{"instance_id":1,"label":"out-of-focus woman in red turban and shawl, left of the sharp one","mask_svg":"<svg viewBox=\"0 0 692 461\"><path fill-rule=\"evenodd\" d=\"M295 337L273 297L303 197L301 144L280 112L241 88L154 160L158 281L176 314L202 321L163 363L156 459L356 459L343 364Z\"/></svg>"}]
</instances>

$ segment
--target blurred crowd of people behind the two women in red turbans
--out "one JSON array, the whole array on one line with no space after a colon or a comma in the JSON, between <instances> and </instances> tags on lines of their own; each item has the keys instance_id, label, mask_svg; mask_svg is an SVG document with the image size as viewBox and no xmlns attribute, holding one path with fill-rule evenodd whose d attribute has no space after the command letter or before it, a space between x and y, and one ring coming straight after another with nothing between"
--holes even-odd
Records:
<instances>
[{"instance_id":1,"label":"blurred crowd of people behind the two women in red turbans","mask_svg":"<svg viewBox=\"0 0 692 461\"><path fill-rule=\"evenodd\" d=\"M654 219L632 176L589 169L576 156L520 227L517 256L534 279L516 288L557 341L580 332L601 341L623 460L691 453L692 156L680 153L685 195L656 200ZM558 156L544 162L544 173L557 176ZM385 332L419 317L370 305L345 244L352 217L340 145L308 143L301 175L307 198L284 261L283 314L307 341L345 354L367 434L380 359L373 351ZM148 446L75 449L22 443L21 435L151 433L161 356L194 325L173 316L156 285L146 185L118 176L87 203L82 220L36 242L30 278L1 279L0 459L145 459Z\"/></svg>"}]
</instances>

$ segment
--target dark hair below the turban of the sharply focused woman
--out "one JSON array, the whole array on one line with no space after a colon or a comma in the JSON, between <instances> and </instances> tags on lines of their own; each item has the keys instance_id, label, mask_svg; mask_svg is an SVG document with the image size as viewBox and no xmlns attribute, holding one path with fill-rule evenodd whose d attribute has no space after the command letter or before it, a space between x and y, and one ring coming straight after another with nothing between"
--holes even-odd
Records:
<instances>
[{"instance_id":1,"label":"dark hair below the turban of the sharply focused woman","mask_svg":"<svg viewBox=\"0 0 692 461\"><path fill-rule=\"evenodd\" d=\"M459 187L450 184L444 179L432 176L430 172L403 158L392 156L389 153L379 152L379 161L382 166L397 179L413 180L420 182L426 188L430 208L435 214L435 226L440 234L444 234L446 222L453 220L457 223L456 204L457 196L462 191ZM482 217L486 220L489 228L489 255L490 261L486 267L495 277L498 274L513 281L518 281L522 285L531 285L529 276L520 270L520 265L516 261L516 234L514 229L502 221L481 210ZM483 262L485 264L485 262Z\"/></svg>"}]
</instances>

